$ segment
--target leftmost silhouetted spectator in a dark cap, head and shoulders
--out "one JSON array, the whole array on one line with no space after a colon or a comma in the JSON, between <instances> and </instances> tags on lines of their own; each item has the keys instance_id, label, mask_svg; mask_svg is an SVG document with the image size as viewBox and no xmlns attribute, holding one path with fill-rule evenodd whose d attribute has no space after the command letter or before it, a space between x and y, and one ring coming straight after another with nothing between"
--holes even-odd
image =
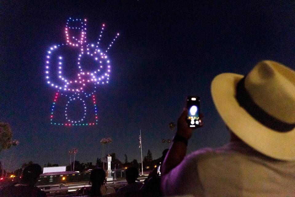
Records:
<instances>
[{"instance_id":1,"label":"leftmost silhouetted spectator in a dark cap, head and shoulders","mask_svg":"<svg viewBox=\"0 0 295 197\"><path fill-rule=\"evenodd\" d=\"M45 192L34 186L41 173L42 168L36 163L25 167L19 183L5 187L0 197L45 197Z\"/></svg>"}]
</instances>

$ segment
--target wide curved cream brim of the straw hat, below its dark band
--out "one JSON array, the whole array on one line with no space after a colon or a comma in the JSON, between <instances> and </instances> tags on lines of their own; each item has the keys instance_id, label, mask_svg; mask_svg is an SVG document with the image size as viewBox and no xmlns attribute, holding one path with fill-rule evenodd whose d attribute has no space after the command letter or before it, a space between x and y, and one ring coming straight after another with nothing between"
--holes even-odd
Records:
<instances>
[{"instance_id":1,"label":"wide curved cream brim of the straw hat, below its dark band","mask_svg":"<svg viewBox=\"0 0 295 197\"><path fill-rule=\"evenodd\" d=\"M215 107L230 130L255 150L279 160L295 160L295 128L274 131L255 120L235 98L236 86L243 75L223 73L211 83Z\"/></svg>"}]
</instances>

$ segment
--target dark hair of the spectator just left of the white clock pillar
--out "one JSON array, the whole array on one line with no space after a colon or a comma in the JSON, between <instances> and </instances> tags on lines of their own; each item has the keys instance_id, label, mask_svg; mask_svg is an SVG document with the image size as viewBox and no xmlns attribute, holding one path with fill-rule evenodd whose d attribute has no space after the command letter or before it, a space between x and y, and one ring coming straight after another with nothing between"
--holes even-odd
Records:
<instances>
[{"instance_id":1,"label":"dark hair of the spectator just left of the white clock pillar","mask_svg":"<svg viewBox=\"0 0 295 197\"><path fill-rule=\"evenodd\" d=\"M91 171L89 184L92 185L90 189L91 196L101 196L100 187L105 182L105 172L102 168L95 168Z\"/></svg>"}]
</instances>

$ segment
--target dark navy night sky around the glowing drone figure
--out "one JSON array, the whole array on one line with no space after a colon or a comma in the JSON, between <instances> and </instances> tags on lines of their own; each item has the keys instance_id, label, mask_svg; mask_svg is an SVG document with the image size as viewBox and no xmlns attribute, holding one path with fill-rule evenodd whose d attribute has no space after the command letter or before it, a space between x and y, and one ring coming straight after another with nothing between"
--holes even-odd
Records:
<instances>
[{"instance_id":1,"label":"dark navy night sky around the glowing drone figure","mask_svg":"<svg viewBox=\"0 0 295 197\"><path fill-rule=\"evenodd\" d=\"M113 139L106 152L140 162L140 129L143 156L150 149L159 158L168 147L161 140L172 138L168 123L176 123L187 95L200 96L204 114L188 152L218 147L229 134L210 95L214 76L246 74L263 59L295 69L294 3L4 0L0 14L0 122L20 141L0 159L14 152L12 169L30 160L68 165L75 147L78 161L95 163L104 137ZM120 32L108 53L110 82L95 94L97 126L50 125L56 91L45 80L45 55L65 42L69 17L88 19L89 42L105 23L102 46Z\"/></svg>"}]
</instances>

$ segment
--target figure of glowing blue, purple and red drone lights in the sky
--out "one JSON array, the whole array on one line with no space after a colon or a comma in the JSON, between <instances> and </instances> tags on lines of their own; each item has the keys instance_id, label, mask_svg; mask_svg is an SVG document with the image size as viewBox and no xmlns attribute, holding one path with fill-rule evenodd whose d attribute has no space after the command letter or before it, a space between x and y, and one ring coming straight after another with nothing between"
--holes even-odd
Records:
<instances>
[{"instance_id":1,"label":"figure of glowing blue, purple and red drone lights in the sky","mask_svg":"<svg viewBox=\"0 0 295 197\"><path fill-rule=\"evenodd\" d=\"M60 126L93 126L97 125L97 106L95 92L99 85L109 82L111 61L108 50L112 47L119 33L102 50L99 44L105 29L102 24L97 42L87 42L86 19L69 18L65 25L66 42L50 46L45 58L46 83L56 90L50 110L50 123ZM58 101L64 106L64 116L60 116ZM78 111L71 108L80 105ZM89 105L91 105L89 107ZM59 109L61 110L61 109ZM87 115L92 111L93 115ZM72 113L70 113L72 112ZM80 115L79 118L72 117ZM91 119L91 120L90 120Z\"/></svg>"}]
</instances>

